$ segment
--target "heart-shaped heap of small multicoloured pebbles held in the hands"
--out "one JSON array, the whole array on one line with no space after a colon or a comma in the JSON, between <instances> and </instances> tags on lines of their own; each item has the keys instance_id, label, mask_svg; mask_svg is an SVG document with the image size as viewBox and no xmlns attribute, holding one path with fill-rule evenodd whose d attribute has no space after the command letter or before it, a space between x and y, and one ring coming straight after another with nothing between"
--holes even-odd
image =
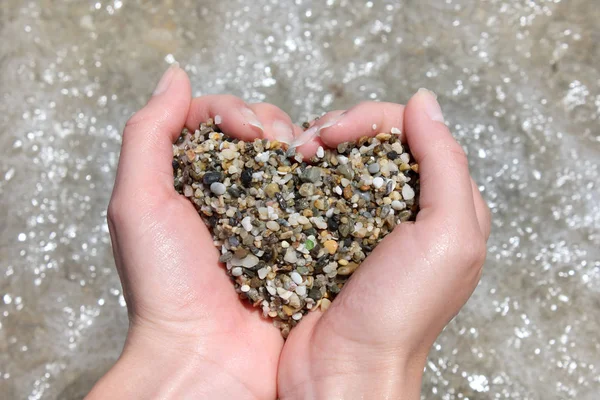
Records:
<instances>
[{"instance_id":1,"label":"heart-shaped heap of small multicoloured pebbles held in the hands","mask_svg":"<svg viewBox=\"0 0 600 400\"><path fill-rule=\"evenodd\" d=\"M304 162L287 144L242 142L208 121L184 129L173 155L175 188L210 229L235 290L284 337L418 211L418 164L396 134Z\"/></svg>"}]
</instances>

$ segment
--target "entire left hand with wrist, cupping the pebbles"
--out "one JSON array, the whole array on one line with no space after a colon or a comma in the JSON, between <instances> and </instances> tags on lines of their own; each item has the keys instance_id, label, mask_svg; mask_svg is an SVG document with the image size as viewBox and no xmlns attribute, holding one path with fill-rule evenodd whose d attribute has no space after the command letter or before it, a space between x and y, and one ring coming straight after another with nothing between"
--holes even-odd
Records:
<instances>
[{"instance_id":1,"label":"entire left hand with wrist, cupping the pebbles","mask_svg":"<svg viewBox=\"0 0 600 400\"><path fill-rule=\"evenodd\" d=\"M171 67L127 123L108 223L130 328L116 365L89 398L276 397L279 330L240 301L212 237L173 188L172 143L219 115L230 135L290 141L289 117L233 96L191 99Z\"/></svg>"}]
</instances>

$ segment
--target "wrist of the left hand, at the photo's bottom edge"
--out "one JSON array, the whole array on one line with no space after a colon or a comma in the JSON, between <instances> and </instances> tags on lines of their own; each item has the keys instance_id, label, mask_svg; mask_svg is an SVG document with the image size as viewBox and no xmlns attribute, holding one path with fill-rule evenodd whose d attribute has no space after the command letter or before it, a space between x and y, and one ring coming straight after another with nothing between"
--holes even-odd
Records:
<instances>
[{"instance_id":1,"label":"wrist of the left hand, at the photo's bottom edge","mask_svg":"<svg viewBox=\"0 0 600 400\"><path fill-rule=\"evenodd\" d=\"M87 399L256 399L246 385L202 351L201 343L128 335L115 365Z\"/></svg>"}]
</instances>

